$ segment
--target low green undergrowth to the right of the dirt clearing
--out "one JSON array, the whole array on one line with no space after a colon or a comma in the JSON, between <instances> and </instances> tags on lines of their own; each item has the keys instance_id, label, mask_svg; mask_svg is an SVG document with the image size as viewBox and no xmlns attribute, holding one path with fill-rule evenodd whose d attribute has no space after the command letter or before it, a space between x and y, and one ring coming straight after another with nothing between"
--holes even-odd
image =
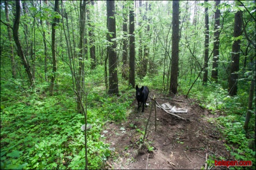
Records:
<instances>
[{"instance_id":1,"label":"low green undergrowth to the right of the dirt clearing","mask_svg":"<svg viewBox=\"0 0 256 170\"><path fill-rule=\"evenodd\" d=\"M180 90L186 95L189 88L188 85L184 85ZM219 115L217 118L210 118L209 121L215 121L216 126L219 127L219 131L224 136L222 140L226 142L227 152L230 152L235 160L251 160L252 166L246 168L255 169L255 98L249 130L246 133L243 129L248 109L248 93L249 89L240 88L238 95L231 97L228 95L228 90L223 89L216 83L202 85L202 82L200 82L192 88L188 97L197 99L199 105L208 109L211 114ZM214 160L212 160L212 163L214 165ZM234 167L229 168L234 169ZM235 169L239 168L242 168L242 166L235 167Z\"/></svg>"}]
</instances>

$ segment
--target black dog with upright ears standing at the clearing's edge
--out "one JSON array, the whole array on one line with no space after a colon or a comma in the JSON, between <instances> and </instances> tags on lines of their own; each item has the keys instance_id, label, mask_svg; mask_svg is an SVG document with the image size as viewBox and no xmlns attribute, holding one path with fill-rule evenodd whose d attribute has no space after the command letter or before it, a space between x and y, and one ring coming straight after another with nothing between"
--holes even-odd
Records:
<instances>
[{"instance_id":1,"label":"black dog with upright ears standing at the clearing's edge","mask_svg":"<svg viewBox=\"0 0 256 170\"><path fill-rule=\"evenodd\" d=\"M136 99L138 101L138 109L139 102L142 104L142 112L144 112L144 105L146 105L147 97L149 96L149 88L142 86L141 88L136 85ZM147 107L147 105L146 105Z\"/></svg>"}]
</instances>

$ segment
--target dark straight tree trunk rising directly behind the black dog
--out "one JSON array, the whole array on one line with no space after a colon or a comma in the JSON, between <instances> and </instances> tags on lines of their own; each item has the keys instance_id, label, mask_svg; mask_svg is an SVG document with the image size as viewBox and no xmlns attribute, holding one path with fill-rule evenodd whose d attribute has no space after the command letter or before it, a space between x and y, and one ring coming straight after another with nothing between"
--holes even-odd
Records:
<instances>
[{"instance_id":1,"label":"dark straight tree trunk rising directly behind the black dog","mask_svg":"<svg viewBox=\"0 0 256 170\"><path fill-rule=\"evenodd\" d=\"M132 7L130 7L129 14L129 46L130 46L130 59L129 59L129 84L135 88L135 25L134 25L134 2L132 2Z\"/></svg>"}]
</instances>

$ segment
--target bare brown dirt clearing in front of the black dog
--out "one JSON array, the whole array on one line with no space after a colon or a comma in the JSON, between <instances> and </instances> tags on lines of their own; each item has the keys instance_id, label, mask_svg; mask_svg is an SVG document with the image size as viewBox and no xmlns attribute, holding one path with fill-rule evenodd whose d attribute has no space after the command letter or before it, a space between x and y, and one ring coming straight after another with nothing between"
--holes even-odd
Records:
<instances>
[{"instance_id":1,"label":"bare brown dirt clearing in front of the black dog","mask_svg":"<svg viewBox=\"0 0 256 170\"><path fill-rule=\"evenodd\" d=\"M154 96L154 92L150 91L150 96ZM141 147L140 140L144 136L141 132L145 131L151 105L141 113L141 108L137 110L138 103L135 99L126 121L106 124L102 135L106 136L106 142L115 152L115 156L106 162L107 169L205 169L206 157L211 160L214 160L213 157L228 157L225 141L222 141L215 123L209 121L209 118L217 115L211 114L195 100L186 99L185 96L176 96L172 100L157 94L155 96L160 105L168 102L176 108L188 109L187 114L177 115L189 121L156 108L155 133L155 111L152 109L145 143L154 148L149 151L144 145ZM148 99L147 103L150 102L152 100ZM224 169L223 166L213 165L211 163L206 166L211 169Z\"/></svg>"}]
</instances>

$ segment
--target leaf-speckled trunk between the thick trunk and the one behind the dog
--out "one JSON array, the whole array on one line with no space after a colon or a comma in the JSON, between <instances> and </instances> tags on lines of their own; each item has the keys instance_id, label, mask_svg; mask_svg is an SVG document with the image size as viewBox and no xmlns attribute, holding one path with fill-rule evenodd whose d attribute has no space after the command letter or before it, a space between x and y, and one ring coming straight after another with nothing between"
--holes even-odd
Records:
<instances>
[{"instance_id":1,"label":"leaf-speckled trunk between the thick trunk and the one behind the dog","mask_svg":"<svg viewBox=\"0 0 256 170\"><path fill-rule=\"evenodd\" d=\"M122 77L124 79L127 79L127 71L128 71L128 65L127 65L127 14L124 13L126 11L126 7L124 5L125 1L123 1L123 68L122 68Z\"/></svg>"}]
</instances>

